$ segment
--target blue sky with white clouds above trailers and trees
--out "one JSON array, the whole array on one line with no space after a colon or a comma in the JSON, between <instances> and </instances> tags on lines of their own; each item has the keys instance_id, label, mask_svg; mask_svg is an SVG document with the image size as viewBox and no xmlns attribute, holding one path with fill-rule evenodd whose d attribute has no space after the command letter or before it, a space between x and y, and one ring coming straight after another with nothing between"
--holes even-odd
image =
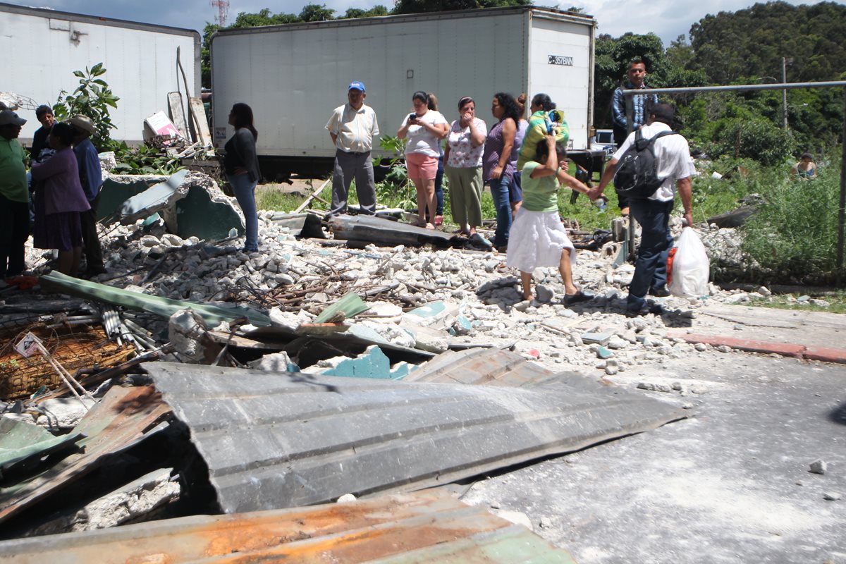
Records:
<instances>
[{"instance_id":1,"label":"blue sky with white clouds above trailers and trees","mask_svg":"<svg viewBox=\"0 0 846 564\"><path fill-rule=\"evenodd\" d=\"M106 18L129 19L149 24L172 25L202 31L206 22L214 21L217 8L211 7L210 0L4 0L7 3L32 6L35 8L53 8L64 12L91 14ZM789 1L789 0L788 0ZM547 0L549 2L549 0ZM233 20L239 12L258 12L269 8L272 13L299 14L308 0L283 2L272 0L230 0L229 17ZM316 0L313 3L325 3L327 8L343 14L347 8L371 8L382 3L388 8L392 0ZM544 2L538 2L539 4ZM744 0L569 0L560 4L561 8L580 6L587 14L596 17L599 33L620 36L627 31L636 33L655 32L667 46L681 34L687 34L690 25L706 14L720 11L734 11L747 8L755 2ZM799 4L802 2L793 2ZM804 2L816 3L816 2ZM838 0L846 3L846 0ZM621 8L624 6L624 8ZM639 22L645 22L639 25Z\"/></svg>"}]
</instances>

